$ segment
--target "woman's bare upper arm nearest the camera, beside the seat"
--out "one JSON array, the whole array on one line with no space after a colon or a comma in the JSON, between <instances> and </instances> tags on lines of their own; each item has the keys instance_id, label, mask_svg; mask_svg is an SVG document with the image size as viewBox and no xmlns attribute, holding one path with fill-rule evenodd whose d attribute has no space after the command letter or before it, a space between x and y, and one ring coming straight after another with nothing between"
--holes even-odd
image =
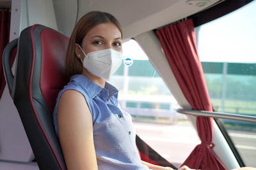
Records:
<instances>
[{"instance_id":1,"label":"woman's bare upper arm nearest the camera, beside the seat","mask_svg":"<svg viewBox=\"0 0 256 170\"><path fill-rule=\"evenodd\" d=\"M84 96L76 90L63 92L57 118L61 149L68 170L97 169L92 115Z\"/></svg>"}]
</instances>

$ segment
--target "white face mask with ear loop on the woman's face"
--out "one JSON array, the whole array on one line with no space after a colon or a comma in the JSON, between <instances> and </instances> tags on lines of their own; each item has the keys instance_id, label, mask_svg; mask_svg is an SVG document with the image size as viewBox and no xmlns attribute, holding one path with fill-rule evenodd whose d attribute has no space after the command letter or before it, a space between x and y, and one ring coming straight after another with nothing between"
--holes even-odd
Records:
<instances>
[{"instance_id":1,"label":"white face mask with ear loop on the woman's face","mask_svg":"<svg viewBox=\"0 0 256 170\"><path fill-rule=\"evenodd\" d=\"M78 45L79 46L79 45ZM84 53L81 46L79 48ZM118 67L122 64L123 53L108 48L106 50L99 50L85 54L84 53L83 66L90 71L90 73L103 78L108 81L116 72Z\"/></svg>"}]
</instances>

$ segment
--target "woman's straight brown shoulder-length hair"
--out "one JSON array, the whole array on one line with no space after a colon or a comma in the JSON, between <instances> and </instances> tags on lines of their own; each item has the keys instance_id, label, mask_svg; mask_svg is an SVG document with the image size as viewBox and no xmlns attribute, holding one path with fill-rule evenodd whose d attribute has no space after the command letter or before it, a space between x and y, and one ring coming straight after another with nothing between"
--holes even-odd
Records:
<instances>
[{"instance_id":1,"label":"woman's straight brown shoulder-length hair","mask_svg":"<svg viewBox=\"0 0 256 170\"><path fill-rule=\"evenodd\" d=\"M74 27L72 34L69 39L68 49L67 49L67 58L66 58L66 66L67 66L67 76L74 74L81 74L83 71L83 64L81 60L79 60L76 56L76 43L82 46L83 38L90 29L95 27L98 24L103 23L113 23L118 27L121 32L121 36L123 36L123 31L118 20L111 15L110 13L102 12L102 11L91 11L84 15L77 22Z\"/></svg>"}]
</instances>

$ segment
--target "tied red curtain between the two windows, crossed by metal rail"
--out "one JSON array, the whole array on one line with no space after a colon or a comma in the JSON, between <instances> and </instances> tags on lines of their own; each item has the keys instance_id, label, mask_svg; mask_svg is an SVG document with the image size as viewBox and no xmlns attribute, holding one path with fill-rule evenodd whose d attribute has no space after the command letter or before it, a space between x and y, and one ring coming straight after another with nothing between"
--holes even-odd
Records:
<instances>
[{"instance_id":1,"label":"tied red curtain between the two windows, crossed by metal rail","mask_svg":"<svg viewBox=\"0 0 256 170\"><path fill-rule=\"evenodd\" d=\"M204 71L196 49L192 20L170 25L156 34L188 103L195 110L212 111ZM202 143L195 147L183 164L202 170L226 169L212 150L212 118L197 117L196 126Z\"/></svg>"}]
</instances>

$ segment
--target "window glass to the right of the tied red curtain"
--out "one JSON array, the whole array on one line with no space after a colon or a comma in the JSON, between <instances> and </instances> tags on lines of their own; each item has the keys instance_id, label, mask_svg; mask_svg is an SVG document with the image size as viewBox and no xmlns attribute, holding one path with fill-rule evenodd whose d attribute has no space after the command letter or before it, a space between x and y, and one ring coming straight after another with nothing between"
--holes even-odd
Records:
<instances>
[{"instance_id":1,"label":"window glass to the right of the tied red curtain","mask_svg":"<svg viewBox=\"0 0 256 170\"><path fill-rule=\"evenodd\" d=\"M256 117L256 1L196 27L214 111ZM256 166L256 124L222 120L246 166Z\"/></svg>"}]
</instances>

